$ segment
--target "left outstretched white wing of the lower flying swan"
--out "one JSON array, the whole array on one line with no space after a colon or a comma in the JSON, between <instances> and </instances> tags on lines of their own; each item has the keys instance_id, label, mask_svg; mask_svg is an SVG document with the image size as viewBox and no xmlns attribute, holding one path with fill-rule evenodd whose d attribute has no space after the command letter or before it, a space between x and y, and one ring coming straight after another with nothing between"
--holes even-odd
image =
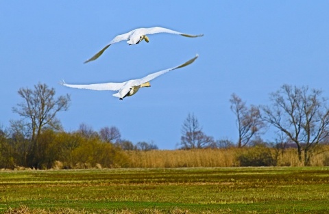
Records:
<instances>
[{"instance_id":1,"label":"left outstretched white wing of the lower flying swan","mask_svg":"<svg viewBox=\"0 0 329 214\"><path fill-rule=\"evenodd\" d=\"M97 91L119 91L125 85L125 83L126 82L75 85L75 84L67 84L64 81L62 81L60 84L69 88L80 88L80 89L97 90Z\"/></svg>"}]
</instances>

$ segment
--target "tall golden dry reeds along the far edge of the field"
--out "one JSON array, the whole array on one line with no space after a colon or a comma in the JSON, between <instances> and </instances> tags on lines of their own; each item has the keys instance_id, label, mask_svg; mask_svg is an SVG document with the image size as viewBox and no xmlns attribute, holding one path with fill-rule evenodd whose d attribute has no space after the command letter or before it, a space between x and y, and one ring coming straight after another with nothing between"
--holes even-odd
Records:
<instances>
[{"instance_id":1,"label":"tall golden dry reeds along the far edge of the field","mask_svg":"<svg viewBox=\"0 0 329 214\"><path fill-rule=\"evenodd\" d=\"M199 150L150 150L126 151L130 168L188 168L188 167L232 167L239 166L237 155L249 148L199 149ZM271 149L278 166L303 166L297 150ZM311 159L311 165L329 165L329 146L321 147Z\"/></svg>"}]
</instances>

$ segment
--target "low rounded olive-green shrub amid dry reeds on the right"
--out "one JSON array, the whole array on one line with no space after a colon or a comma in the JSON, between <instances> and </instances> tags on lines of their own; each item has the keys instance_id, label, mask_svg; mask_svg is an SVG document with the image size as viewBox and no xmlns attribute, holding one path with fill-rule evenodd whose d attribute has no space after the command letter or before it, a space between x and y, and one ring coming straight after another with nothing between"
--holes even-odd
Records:
<instances>
[{"instance_id":1,"label":"low rounded olive-green shrub amid dry reeds on the right","mask_svg":"<svg viewBox=\"0 0 329 214\"><path fill-rule=\"evenodd\" d=\"M271 166L276 165L271 149L264 146L246 148L238 153L236 157L240 166Z\"/></svg>"}]
</instances>

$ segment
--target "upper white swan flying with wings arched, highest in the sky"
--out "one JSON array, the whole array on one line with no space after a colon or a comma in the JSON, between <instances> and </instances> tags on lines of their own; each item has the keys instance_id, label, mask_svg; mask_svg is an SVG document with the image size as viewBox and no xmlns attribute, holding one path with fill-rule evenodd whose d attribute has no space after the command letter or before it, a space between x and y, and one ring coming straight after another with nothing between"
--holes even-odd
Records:
<instances>
[{"instance_id":1,"label":"upper white swan flying with wings arched, highest in the sky","mask_svg":"<svg viewBox=\"0 0 329 214\"><path fill-rule=\"evenodd\" d=\"M93 61L95 59L97 59L106 49L108 49L108 47L111 44L117 43L117 42L121 42L122 40L127 40L127 43L129 45L132 44L138 44L139 42L145 40L145 42L149 42L149 38L146 36L148 34L158 34L158 33L168 33L168 34L179 34L181 36L186 36L186 37L199 37L199 36L204 36L204 34L199 34L199 35L190 35L190 34L183 34L180 33L178 31L173 31L171 29L167 29L164 27L149 27L149 28L137 28L134 29L126 34L121 34L118 35L116 37L114 37L114 39L112 39L112 41L110 41L110 43L108 43L108 45L106 45L103 49L101 49L101 51L99 51L98 53L96 53L93 57L91 57L90 59L86 60L86 62L90 62Z\"/></svg>"}]
</instances>

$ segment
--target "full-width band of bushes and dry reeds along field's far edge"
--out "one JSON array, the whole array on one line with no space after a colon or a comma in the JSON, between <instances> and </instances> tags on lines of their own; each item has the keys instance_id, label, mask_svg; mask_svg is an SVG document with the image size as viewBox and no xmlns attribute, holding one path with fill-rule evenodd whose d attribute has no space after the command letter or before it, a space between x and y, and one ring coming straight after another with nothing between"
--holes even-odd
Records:
<instances>
[{"instance_id":1,"label":"full-width band of bushes and dry reeds along field's far edge","mask_svg":"<svg viewBox=\"0 0 329 214\"><path fill-rule=\"evenodd\" d=\"M244 148L206 148L190 150L157 150L154 144L121 140L104 142L97 132L86 135L46 130L39 139L38 169L85 168L189 168L232 166L301 166L295 148L273 148L268 145ZM127 146L129 145L129 146ZM0 135L0 168L32 168L28 163L27 139ZM25 148L27 147L27 148ZM329 146L318 146L310 165L329 165Z\"/></svg>"}]
</instances>

